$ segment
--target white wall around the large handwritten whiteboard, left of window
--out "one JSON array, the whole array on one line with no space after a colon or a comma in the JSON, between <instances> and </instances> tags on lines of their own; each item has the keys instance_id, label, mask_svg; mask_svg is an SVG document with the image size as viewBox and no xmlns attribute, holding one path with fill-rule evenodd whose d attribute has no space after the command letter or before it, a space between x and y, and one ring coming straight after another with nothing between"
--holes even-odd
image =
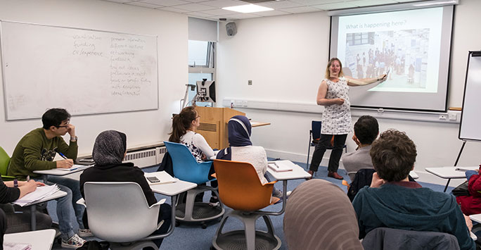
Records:
<instances>
[{"instance_id":1,"label":"white wall around the large handwritten whiteboard, left of window","mask_svg":"<svg viewBox=\"0 0 481 250\"><path fill-rule=\"evenodd\" d=\"M71 123L76 126L81 155L91 154L94 140L103 130L127 133L128 146L168 138L172 124L170 118L172 113L179 112L179 100L184 96L188 82L186 15L98 0L2 0L0 20L158 36L160 108L155 111L75 116ZM0 146L12 154L23 135L41 127L41 120L6 121L1 79L0 85ZM65 89L65 94L75 95L69 89ZM65 139L69 138L66 135Z\"/></svg>"}]
</instances>

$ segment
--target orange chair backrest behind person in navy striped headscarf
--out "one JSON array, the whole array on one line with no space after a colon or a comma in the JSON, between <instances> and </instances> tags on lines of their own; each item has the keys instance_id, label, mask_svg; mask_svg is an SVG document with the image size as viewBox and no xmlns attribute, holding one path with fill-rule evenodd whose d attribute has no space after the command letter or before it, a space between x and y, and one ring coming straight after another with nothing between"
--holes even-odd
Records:
<instances>
[{"instance_id":1,"label":"orange chair backrest behind person in navy striped headscarf","mask_svg":"<svg viewBox=\"0 0 481 250\"><path fill-rule=\"evenodd\" d=\"M234 210L256 211L271 204L274 184L262 185L250 163L214 160L219 198Z\"/></svg>"}]
</instances>

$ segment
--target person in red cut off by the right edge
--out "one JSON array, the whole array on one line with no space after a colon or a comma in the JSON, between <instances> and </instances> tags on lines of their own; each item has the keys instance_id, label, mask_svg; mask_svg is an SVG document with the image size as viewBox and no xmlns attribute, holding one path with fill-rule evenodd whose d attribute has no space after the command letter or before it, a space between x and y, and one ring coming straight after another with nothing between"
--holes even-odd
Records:
<instances>
[{"instance_id":1,"label":"person in red cut off by the right edge","mask_svg":"<svg viewBox=\"0 0 481 250\"><path fill-rule=\"evenodd\" d=\"M466 215L481 213L481 178L479 172L480 170L466 171L470 195L456 197L456 201L461 206L461 211Z\"/></svg>"}]
</instances>

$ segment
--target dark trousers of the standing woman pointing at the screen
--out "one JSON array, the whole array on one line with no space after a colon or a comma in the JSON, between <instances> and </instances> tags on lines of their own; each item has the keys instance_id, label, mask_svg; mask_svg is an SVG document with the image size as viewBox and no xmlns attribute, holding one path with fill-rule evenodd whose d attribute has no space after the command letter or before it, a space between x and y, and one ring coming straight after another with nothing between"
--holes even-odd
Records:
<instances>
[{"instance_id":1,"label":"dark trousers of the standing woman pointing at the screen","mask_svg":"<svg viewBox=\"0 0 481 250\"><path fill-rule=\"evenodd\" d=\"M319 168L319 164L322 161L322 157L326 152L326 149L332 149L331 156L329 157L329 172L338 172L340 156L342 156L342 148L346 143L347 135L334 135L334 144L331 146L331 139L333 135L321 134L319 143L316 145L314 154L312 154L312 161L309 170L316 172Z\"/></svg>"}]
</instances>

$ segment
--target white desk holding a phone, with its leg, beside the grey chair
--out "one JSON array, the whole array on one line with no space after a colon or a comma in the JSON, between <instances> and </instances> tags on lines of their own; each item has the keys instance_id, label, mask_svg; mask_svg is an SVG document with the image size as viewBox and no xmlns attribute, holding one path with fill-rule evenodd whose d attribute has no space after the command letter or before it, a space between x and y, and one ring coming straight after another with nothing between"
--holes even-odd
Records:
<instances>
[{"instance_id":1,"label":"white desk holding a phone, with its leg, beside the grey chair","mask_svg":"<svg viewBox=\"0 0 481 250\"><path fill-rule=\"evenodd\" d=\"M153 172L153 173L145 173L144 175L146 177L158 177L161 179L161 175L159 175L160 172ZM197 184L192 183L192 182L184 182L183 180L178 180L174 183L166 183L166 184L150 184L149 182L150 189L152 189L153 192L158 193L158 194L163 194L170 196L170 201L171 201L171 206L172 206L172 224L170 226L170 229L168 232L166 232L163 235L152 235L147 237L146 239L159 239L163 237L167 237L174 232L174 227L175 227L175 204L177 203L177 194L180 194L181 192L186 192L189 189L193 189L194 187L197 187Z\"/></svg>"}]
</instances>

